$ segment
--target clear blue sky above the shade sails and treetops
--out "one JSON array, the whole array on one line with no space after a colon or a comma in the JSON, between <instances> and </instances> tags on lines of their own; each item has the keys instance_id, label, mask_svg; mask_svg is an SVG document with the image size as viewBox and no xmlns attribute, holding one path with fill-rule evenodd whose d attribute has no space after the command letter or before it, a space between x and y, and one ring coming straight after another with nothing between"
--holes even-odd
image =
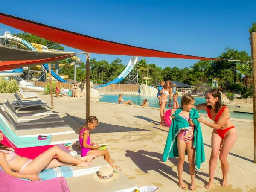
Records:
<instances>
[{"instance_id":1,"label":"clear blue sky above the shade sails and treetops","mask_svg":"<svg viewBox=\"0 0 256 192\"><path fill-rule=\"evenodd\" d=\"M16 3L15 3L16 2ZM256 1L41 0L1 1L0 12L124 44L217 57L226 47L250 54ZM0 24L0 29L20 32ZM66 51L81 52L71 47ZM97 60L130 57L91 54ZM85 55L81 56L85 61ZM197 60L146 58L159 67L189 67Z\"/></svg>"}]
</instances>

